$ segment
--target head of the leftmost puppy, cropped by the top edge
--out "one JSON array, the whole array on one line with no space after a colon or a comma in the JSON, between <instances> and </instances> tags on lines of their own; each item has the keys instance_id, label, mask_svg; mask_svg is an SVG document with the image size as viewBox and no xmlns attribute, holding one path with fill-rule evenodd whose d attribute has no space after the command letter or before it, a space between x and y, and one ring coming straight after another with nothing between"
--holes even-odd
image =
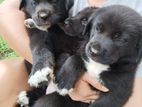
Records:
<instances>
[{"instance_id":1,"label":"head of the leftmost puppy, cropped by the top edge","mask_svg":"<svg viewBox=\"0 0 142 107\"><path fill-rule=\"evenodd\" d=\"M68 16L68 10L73 4L68 3L68 0L22 0L19 8L23 9L37 26L48 28L64 21Z\"/></svg>"}]
</instances>

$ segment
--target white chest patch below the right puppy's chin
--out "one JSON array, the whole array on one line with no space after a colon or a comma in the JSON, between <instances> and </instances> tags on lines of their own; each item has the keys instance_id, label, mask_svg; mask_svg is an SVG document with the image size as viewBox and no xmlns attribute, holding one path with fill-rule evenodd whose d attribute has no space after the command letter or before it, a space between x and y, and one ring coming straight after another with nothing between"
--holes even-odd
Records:
<instances>
[{"instance_id":1,"label":"white chest patch below the right puppy's chin","mask_svg":"<svg viewBox=\"0 0 142 107\"><path fill-rule=\"evenodd\" d=\"M85 61L87 72L93 78L100 80L100 74L108 70L109 66L93 61L89 58L89 62Z\"/></svg>"}]
</instances>

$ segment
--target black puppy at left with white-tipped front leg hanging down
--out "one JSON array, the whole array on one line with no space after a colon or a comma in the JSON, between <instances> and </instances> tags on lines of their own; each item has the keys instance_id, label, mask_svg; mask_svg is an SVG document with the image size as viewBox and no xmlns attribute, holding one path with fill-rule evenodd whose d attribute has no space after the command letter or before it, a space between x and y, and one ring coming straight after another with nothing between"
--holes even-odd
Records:
<instances>
[{"instance_id":1,"label":"black puppy at left with white-tipped front leg hanging down","mask_svg":"<svg viewBox=\"0 0 142 107\"><path fill-rule=\"evenodd\" d=\"M73 1L70 0L21 1L20 9L26 13L25 25L31 28L27 29L33 55L33 68L28 81L31 86L38 87L53 71L55 56L59 54L60 48L64 48L59 46L59 49L55 49L55 45L64 43L63 40L58 39L60 38L58 35L64 35L58 24L63 23L68 17L72 5ZM51 42L52 39L54 39L53 42ZM59 41L59 44L55 39Z\"/></svg>"}]
</instances>

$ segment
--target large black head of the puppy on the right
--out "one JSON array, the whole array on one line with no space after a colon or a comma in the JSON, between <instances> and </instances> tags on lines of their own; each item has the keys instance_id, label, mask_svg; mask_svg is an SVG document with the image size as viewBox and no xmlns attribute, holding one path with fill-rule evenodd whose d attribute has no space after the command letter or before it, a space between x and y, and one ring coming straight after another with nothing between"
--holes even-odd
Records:
<instances>
[{"instance_id":1,"label":"large black head of the puppy on the right","mask_svg":"<svg viewBox=\"0 0 142 107\"><path fill-rule=\"evenodd\" d=\"M98 9L89 19L90 40L86 54L91 59L113 64L136 58L140 51L142 18L134 10L120 6ZM137 58L136 58L137 59Z\"/></svg>"}]
</instances>

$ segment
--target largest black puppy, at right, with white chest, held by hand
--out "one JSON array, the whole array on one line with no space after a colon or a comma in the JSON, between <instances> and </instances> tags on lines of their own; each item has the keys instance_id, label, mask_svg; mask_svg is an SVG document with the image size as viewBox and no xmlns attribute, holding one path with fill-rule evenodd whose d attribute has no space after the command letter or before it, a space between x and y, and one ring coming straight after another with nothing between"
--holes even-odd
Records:
<instances>
[{"instance_id":1,"label":"largest black puppy, at right, with white chest, held by hand","mask_svg":"<svg viewBox=\"0 0 142 107\"><path fill-rule=\"evenodd\" d=\"M71 30L66 31L71 36L77 34L72 29L77 26L73 24L76 21L73 19L76 18L70 18L70 21L66 22L68 30L71 25ZM103 7L91 15L86 31L90 31L90 39L85 47L85 54L73 65L78 69L62 72L60 75L63 77L59 78L59 81L62 81L63 87L71 84L68 79L78 77L78 71L86 69L110 91L101 92L100 97L90 105L53 93L38 100L35 107L122 107L128 101L135 72L142 57L142 17L125 6ZM79 67L80 65L82 67Z\"/></svg>"}]
</instances>

